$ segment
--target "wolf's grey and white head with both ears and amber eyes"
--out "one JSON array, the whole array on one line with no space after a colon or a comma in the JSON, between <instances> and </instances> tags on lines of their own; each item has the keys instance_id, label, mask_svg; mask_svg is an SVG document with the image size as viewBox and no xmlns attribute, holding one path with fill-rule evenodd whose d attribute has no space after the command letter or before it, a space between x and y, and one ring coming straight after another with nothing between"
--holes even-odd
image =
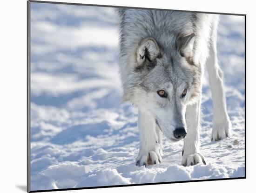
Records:
<instances>
[{"instance_id":1,"label":"wolf's grey and white head with both ears and amber eyes","mask_svg":"<svg viewBox=\"0 0 256 193\"><path fill-rule=\"evenodd\" d=\"M153 37L140 40L134 50L123 100L150 112L170 140L186 135L186 106L201 96L201 68L193 61L195 34L180 34L168 43Z\"/></svg>"}]
</instances>

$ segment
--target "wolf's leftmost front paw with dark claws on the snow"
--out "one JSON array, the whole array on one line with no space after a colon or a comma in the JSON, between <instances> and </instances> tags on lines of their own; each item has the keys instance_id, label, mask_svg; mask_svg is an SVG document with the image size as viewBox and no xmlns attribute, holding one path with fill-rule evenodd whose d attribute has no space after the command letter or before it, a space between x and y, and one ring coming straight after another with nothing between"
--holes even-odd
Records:
<instances>
[{"instance_id":1,"label":"wolf's leftmost front paw with dark claws on the snow","mask_svg":"<svg viewBox=\"0 0 256 193\"><path fill-rule=\"evenodd\" d=\"M136 166L148 166L148 165L154 165L159 164L162 162L162 157L160 155L160 151L150 151L150 152L144 152L139 153L137 159L136 159Z\"/></svg>"}]
</instances>

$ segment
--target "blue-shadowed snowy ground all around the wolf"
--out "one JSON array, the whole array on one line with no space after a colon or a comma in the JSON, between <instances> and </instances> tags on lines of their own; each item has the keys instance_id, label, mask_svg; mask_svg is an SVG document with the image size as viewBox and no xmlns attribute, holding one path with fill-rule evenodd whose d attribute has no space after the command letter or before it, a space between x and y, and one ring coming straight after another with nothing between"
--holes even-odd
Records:
<instances>
[{"instance_id":1,"label":"blue-shadowed snowy ground all around the wolf","mask_svg":"<svg viewBox=\"0 0 256 193\"><path fill-rule=\"evenodd\" d=\"M31 16L31 190L244 176L242 16L222 15L218 31L233 136L210 142L206 73L201 150L207 165L189 167L180 166L183 142L167 139L161 164L135 166L137 111L121 104L112 8L32 3Z\"/></svg>"}]
</instances>

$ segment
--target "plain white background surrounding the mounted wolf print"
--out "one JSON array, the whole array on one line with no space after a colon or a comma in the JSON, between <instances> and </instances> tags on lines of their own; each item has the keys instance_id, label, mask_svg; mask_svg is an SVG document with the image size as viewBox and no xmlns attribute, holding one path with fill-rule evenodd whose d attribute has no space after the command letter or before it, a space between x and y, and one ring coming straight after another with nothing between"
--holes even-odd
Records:
<instances>
[{"instance_id":1,"label":"plain white background surrounding the mounted wolf print","mask_svg":"<svg viewBox=\"0 0 256 193\"><path fill-rule=\"evenodd\" d=\"M60 0L61 1L61 0ZM62 0L63 1L63 0ZM243 192L253 188L255 182L255 140L253 125L255 108L255 21L253 1L235 0L65 0L65 2L118 5L130 7L154 7L178 10L208 11L247 14L247 179L221 180L151 186L133 186L104 189L76 190L68 192L118 193L185 192L198 193ZM24 193L27 179L27 2L6 0L0 5L0 176L1 192ZM249 97L250 96L250 97ZM11 137L12 136L12 137ZM249 153L250 152L250 153ZM251 187L251 188L250 188Z\"/></svg>"}]
</instances>

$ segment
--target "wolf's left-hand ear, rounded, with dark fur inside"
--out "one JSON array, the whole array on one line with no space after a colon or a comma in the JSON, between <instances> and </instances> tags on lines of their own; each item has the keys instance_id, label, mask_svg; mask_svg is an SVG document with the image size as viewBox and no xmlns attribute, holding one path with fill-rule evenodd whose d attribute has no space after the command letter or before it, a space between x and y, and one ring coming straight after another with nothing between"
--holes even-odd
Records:
<instances>
[{"instance_id":1,"label":"wolf's left-hand ear, rounded, with dark fur inside","mask_svg":"<svg viewBox=\"0 0 256 193\"><path fill-rule=\"evenodd\" d=\"M160 49L154 38L143 39L137 47L136 60L141 65L145 60L152 61L160 55Z\"/></svg>"}]
</instances>

